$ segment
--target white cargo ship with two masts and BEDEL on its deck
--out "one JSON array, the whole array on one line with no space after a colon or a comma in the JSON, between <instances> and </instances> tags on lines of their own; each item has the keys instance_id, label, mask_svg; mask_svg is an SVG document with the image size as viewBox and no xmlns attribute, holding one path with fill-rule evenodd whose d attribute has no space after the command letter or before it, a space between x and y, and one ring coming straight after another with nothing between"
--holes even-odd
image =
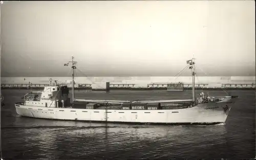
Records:
<instances>
[{"instance_id":1,"label":"white cargo ship with two masts and BEDEL on its deck","mask_svg":"<svg viewBox=\"0 0 256 160\"><path fill-rule=\"evenodd\" d=\"M225 123L238 96L195 96L195 59L187 61L193 89L191 99L170 100L99 100L75 99L74 71L77 62L64 66L72 68L72 99L65 84L45 86L40 92L29 92L23 102L15 102L20 116L54 120L79 120L112 123L143 124L218 124Z\"/></svg>"}]
</instances>

